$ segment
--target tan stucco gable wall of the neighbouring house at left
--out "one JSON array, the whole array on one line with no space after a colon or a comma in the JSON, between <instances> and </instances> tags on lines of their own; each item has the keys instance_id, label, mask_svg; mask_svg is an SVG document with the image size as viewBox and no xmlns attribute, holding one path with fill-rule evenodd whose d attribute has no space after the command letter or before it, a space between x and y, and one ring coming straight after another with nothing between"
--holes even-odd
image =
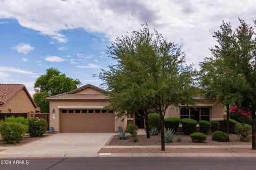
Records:
<instances>
[{"instance_id":1,"label":"tan stucco gable wall of the neighbouring house at left","mask_svg":"<svg viewBox=\"0 0 256 170\"><path fill-rule=\"evenodd\" d=\"M12 113L35 112L35 106L29 99L24 89L20 90L18 94L13 96L5 104L0 105L0 110L2 110L2 113L8 113L8 108L12 108Z\"/></svg>"}]
</instances>

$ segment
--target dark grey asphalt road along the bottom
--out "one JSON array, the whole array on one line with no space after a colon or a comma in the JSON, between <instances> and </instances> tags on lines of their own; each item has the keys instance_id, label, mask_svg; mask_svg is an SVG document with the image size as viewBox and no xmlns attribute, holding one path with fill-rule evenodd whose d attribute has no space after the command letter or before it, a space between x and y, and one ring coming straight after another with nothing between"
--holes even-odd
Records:
<instances>
[{"instance_id":1,"label":"dark grey asphalt road along the bottom","mask_svg":"<svg viewBox=\"0 0 256 170\"><path fill-rule=\"evenodd\" d=\"M0 158L1 159L1 158ZM5 169L101 169L101 170L133 170L133 169L256 169L255 158L245 157L163 157L163 158L65 158L65 159L1 159L1 163L11 165L0 165L1 170ZM15 160L15 162L13 162ZM23 162L16 162L23 160ZM28 165L15 165L14 163Z\"/></svg>"}]
</instances>

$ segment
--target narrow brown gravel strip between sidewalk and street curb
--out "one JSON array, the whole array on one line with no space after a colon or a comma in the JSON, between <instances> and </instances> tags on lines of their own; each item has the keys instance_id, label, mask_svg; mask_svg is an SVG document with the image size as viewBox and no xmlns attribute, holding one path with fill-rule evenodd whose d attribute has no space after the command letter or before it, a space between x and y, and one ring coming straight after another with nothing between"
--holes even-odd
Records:
<instances>
[{"instance_id":1,"label":"narrow brown gravel strip between sidewalk and street curb","mask_svg":"<svg viewBox=\"0 0 256 170\"><path fill-rule=\"evenodd\" d=\"M256 150L250 148L221 148L221 149L209 149L209 148L178 148L178 149L141 149L141 148L101 148L98 153L112 153L112 154L137 154L137 153L256 153Z\"/></svg>"}]
</instances>

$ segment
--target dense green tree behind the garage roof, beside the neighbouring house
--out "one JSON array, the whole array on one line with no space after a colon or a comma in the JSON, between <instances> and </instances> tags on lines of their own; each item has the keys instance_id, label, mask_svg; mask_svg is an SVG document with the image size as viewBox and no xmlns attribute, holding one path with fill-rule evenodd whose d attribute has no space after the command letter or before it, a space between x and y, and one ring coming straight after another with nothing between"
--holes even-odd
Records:
<instances>
[{"instance_id":1,"label":"dense green tree behind the garage roof, beside the neighbouring house","mask_svg":"<svg viewBox=\"0 0 256 170\"><path fill-rule=\"evenodd\" d=\"M78 79L72 79L61 73L58 69L50 68L46 73L36 79L33 98L41 112L49 113L49 102L45 97L59 95L70 90L76 89L81 84Z\"/></svg>"}]
</instances>

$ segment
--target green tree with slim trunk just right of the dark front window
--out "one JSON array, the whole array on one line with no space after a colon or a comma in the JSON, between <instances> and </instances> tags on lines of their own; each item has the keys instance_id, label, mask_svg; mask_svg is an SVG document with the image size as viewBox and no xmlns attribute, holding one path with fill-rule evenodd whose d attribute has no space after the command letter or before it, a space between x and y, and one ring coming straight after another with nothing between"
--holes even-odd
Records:
<instances>
[{"instance_id":1,"label":"green tree with slim trunk just right of the dark front window","mask_svg":"<svg viewBox=\"0 0 256 170\"><path fill-rule=\"evenodd\" d=\"M230 67L230 60L234 60L236 55L236 35L230 23L222 22L220 30L214 32L213 37L218 44L210 49L212 57L205 58L200 64L199 82L206 98L215 98L226 107L226 132L229 133L229 109L234 104L241 105L248 86L244 76Z\"/></svg>"}]
</instances>

